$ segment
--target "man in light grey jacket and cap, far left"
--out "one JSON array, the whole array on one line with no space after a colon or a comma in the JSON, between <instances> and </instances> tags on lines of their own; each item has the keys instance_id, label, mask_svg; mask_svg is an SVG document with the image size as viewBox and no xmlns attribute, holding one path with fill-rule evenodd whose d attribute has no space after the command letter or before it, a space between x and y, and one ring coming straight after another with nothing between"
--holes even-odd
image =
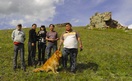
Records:
<instances>
[{"instance_id":1,"label":"man in light grey jacket and cap, far left","mask_svg":"<svg viewBox=\"0 0 132 81\"><path fill-rule=\"evenodd\" d=\"M17 28L12 32L11 35L14 42L14 58L13 58L13 69L16 71L17 68L17 56L18 51L20 51L21 57L21 67L24 71L25 68L25 60L24 60L24 41L25 41L25 33L22 31L22 25L18 24Z\"/></svg>"}]
</instances>

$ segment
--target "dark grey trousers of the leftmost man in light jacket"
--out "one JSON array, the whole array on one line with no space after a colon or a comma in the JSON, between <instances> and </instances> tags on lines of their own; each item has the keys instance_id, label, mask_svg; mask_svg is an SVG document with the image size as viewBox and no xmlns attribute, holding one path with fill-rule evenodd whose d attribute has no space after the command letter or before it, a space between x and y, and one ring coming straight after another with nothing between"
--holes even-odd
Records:
<instances>
[{"instance_id":1,"label":"dark grey trousers of the leftmost man in light jacket","mask_svg":"<svg viewBox=\"0 0 132 81\"><path fill-rule=\"evenodd\" d=\"M25 69L25 60L24 60L24 44L14 45L14 58L13 58L13 68L17 68L17 56L18 52L20 51L20 58L21 58L21 67Z\"/></svg>"}]
</instances>

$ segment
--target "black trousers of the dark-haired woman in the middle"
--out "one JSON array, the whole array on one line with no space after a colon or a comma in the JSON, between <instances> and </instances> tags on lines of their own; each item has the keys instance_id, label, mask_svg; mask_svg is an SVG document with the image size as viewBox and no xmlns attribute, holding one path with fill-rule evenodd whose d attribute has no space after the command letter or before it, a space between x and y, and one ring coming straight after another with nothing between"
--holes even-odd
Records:
<instances>
[{"instance_id":1,"label":"black trousers of the dark-haired woman in the middle","mask_svg":"<svg viewBox=\"0 0 132 81\"><path fill-rule=\"evenodd\" d=\"M46 43L38 42L38 61L44 62Z\"/></svg>"}]
</instances>

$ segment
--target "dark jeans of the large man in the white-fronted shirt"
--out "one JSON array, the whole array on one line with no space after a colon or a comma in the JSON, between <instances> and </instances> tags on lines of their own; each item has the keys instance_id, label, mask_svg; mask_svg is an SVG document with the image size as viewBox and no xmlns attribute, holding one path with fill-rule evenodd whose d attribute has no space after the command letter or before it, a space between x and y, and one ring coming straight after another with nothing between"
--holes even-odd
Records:
<instances>
[{"instance_id":1,"label":"dark jeans of the large man in the white-fronted shirt","mask_svg":"<svg viewBox=\"0 0 132 81\"><path fill-rule=\"evenodd\" d=\"M62 66L63 68L67 68L67 61L68 61L68 55L70 55L70 69L71 71L76 70L76 62L77 62L77 54L78 54L78 49L73 48L73 49L68 49L68 48L63 48L62 50Z\"/></svg>"}]
</instances>

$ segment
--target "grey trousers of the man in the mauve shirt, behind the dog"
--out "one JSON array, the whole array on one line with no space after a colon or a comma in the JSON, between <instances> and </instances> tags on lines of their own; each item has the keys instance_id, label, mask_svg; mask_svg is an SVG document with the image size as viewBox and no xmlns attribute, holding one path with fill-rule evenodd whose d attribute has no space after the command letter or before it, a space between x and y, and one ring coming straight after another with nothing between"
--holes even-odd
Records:
<instances>
[{"instance_id":1,"label":"grey trousers of the man in the mauve shirt, behind the dog","mask_svg":"<svg viewBox=\"0 0 132 81\"><path fill-rule=\"evenodd\" d=\"M47 59L50 58L52 49L53 49L53 53L57 50L57 44L56 43L48 43L48 45L46 47Z\"/></svg>"}]
</instances>

